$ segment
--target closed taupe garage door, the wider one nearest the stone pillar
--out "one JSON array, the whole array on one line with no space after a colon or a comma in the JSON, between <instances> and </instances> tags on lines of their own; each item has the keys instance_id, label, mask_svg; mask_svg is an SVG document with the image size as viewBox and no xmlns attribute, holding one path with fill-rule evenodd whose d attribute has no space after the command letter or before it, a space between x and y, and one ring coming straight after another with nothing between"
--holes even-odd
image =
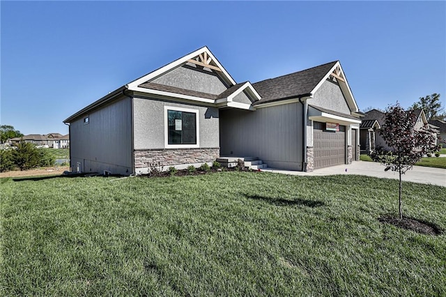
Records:
<instances>
[{"instance_id":1,"label":"closed taupe garage door, the wider one nearest the stone pillar","mask_svg":"<svg viewBox=\"0 0 446 297\"><path fill-rule=\"evenodd\" d=\"M346 126L339 131L326 131L325 123L313 123L314 168L329 167L346 163Z\"/></svg>"}]
</instances>

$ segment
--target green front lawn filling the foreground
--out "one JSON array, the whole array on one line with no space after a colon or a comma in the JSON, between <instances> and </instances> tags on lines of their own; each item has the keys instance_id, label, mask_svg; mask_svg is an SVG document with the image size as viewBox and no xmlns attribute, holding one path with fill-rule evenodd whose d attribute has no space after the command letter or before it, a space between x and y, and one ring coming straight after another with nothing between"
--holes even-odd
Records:
<instances>
[{"instance_id":1,"label":"green front lawn filling the foreground","mask_svg":"<svg viewBox=\"0 0 446 297\"><path fill-rule=\"evenodd\" d=\"M446 234L397 181L221 172L0 179L1 296L445 296ZM445 188L403 183L446 229Z\"/></svg>"}]
</instances>

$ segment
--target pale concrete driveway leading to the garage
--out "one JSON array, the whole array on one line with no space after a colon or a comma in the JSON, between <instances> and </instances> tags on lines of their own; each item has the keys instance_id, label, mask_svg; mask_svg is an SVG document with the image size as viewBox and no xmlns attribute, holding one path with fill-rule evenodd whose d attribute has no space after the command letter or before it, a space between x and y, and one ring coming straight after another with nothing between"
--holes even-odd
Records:
<instances>
[{"instance_id":1,"label":"pale concrete driveway leading to the garage","mask_svg":"<svg viewBox=\"0 0 446 297\"><path fill-rule=\"evenodd\" d=\"M325 176L334 174L357 174L365 176L375 176L379 178L398 179L397 172L384 171L384 166L376 162L355 161L351 165L337 165L322 169L316 169L314 172L291 172L281 169L261 169L263 172L275 172L282 174L300 175L300 176ZM446 169L414 166L412 170L402 176L403 181L413 181L414 183L426 183L430 185L443 185L446 187Z\"/></svg>"}]
</instances>

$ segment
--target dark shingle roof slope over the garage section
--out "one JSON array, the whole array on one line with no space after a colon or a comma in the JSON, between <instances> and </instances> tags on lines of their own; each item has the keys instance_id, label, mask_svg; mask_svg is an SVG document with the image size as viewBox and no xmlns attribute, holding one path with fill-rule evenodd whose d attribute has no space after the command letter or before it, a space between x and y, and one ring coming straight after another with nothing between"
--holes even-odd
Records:
<instances>
[{"instance_id":1,"label":"dark shingle roof slope over the garage section","mask_svg":"<svg viewBox=\"0 0 446 297\"><path fill-rule=\"evenodd\" d=\"M337 61L252 84L262 97L256 104L296 98L311 93L335 63Z\"/></svg>"}]
</instances>

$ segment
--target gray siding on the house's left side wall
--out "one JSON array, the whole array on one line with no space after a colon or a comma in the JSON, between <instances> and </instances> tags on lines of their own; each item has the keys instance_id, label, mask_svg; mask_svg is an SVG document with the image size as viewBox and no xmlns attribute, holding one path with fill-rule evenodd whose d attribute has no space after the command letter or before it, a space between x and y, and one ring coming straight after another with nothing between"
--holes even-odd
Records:
<instances>
[{"instance_id":1,"label":"gray siding on the house's left side wall","mask_svg":"<svg viewBox=\"0 0 446 297\"><path fill-rule=\"evenodd\" d=\"M86 115L85 115L86 116ZM82 172L104 170L112 174L132 173L132 101L122 98L70 123L72 170L77 162Z\"/></svg>"}]
</instances>

